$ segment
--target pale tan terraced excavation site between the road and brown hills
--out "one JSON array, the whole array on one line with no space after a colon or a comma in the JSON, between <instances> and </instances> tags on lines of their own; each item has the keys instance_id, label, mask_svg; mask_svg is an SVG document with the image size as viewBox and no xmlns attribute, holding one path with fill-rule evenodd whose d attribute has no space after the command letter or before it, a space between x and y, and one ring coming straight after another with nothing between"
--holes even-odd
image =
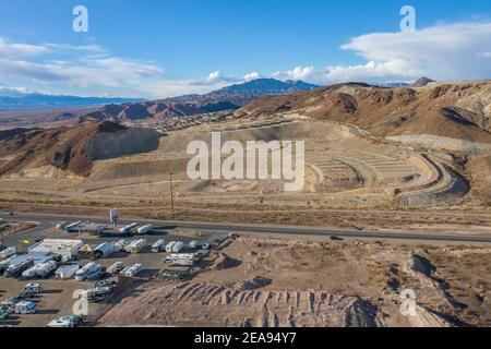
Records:
<instances>
[{"instance_id":1,"label":"pale tan terraced excavation site between the road and brown hills","mask_svg":"<svg viewBox=\"0 0 491 349\"><path fill-rule=\"evenodd\" d=\"M132 135L124 135L130 131L144 134L152 146L142 149ZM223 143L304 141L303 190L285 192L284 180L272 179L190 180L187 167L192 155L187 154L187 146L193 140L209 144L211 132L221 132ZM94 159L86 165L88 176L34 161L2 177L0 204L5 210L36 207L95 214L119 207L128 215L149 218L370 229L423 229L444 224L442 229L466 226L467 231L482 232L491 222L489 206L482 206L479 193L447 153L394 144L355 125L296 113L235 119L166 135L139 129L103 132L88 144L87 153ZM133 147L129 153L135 154L118 154L124 146Z\"/></svg>"}]
</instances>

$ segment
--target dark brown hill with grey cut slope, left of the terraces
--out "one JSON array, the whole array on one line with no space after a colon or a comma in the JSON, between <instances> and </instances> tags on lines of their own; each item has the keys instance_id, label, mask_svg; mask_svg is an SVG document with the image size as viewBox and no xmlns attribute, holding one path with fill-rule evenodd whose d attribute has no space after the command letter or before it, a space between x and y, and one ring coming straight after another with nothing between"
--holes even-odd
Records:
<instances>
[{"instance_id":1,"label":"dark brown hill with grey cut slope, left of the terraces","mask_svg":"<svg viewBox=\"0 0 491 349\"><path fill-rule=\"evenodd\" d=\"M108 121L32 130L0 142L0 156L13 157L0 167L0 176L45 166L88 176L94 159L149 152L158 146L158 139L156 132Z\"/></svg>"}]
</instances>

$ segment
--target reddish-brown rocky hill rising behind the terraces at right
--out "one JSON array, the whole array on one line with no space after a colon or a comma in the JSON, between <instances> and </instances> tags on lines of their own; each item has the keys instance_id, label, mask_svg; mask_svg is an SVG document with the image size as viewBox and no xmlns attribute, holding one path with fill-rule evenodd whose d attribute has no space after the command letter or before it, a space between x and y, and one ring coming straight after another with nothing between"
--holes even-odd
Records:
<instances>
[{"instance_id":1,"label":"reddish-brown rocky hill rising behind the terraces at right","mask_svg":"<svg viewBox=\"0 0 491 349\"><path fill-rule=\"evenodd\" d=\"M491 143L490 81L415 88L338 84L265 97L236 111L236 116L258 118L282 112L351 123L379 136L433 135Z\"/></svg>"}]
</instances>

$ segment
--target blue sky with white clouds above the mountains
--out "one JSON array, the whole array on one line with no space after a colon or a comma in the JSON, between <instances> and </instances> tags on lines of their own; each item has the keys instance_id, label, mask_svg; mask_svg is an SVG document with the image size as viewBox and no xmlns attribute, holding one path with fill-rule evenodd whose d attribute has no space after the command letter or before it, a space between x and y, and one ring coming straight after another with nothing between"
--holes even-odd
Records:
<instances>
[{"instance_id":1,"label":"blue sky with white clouds above the mountains","mask_svg":"<svg viewBox=\"0 0 491 349\"><path fill-rule=\"evenodd\" d=\"M491 1L0 0L0 94L159 98L258 76L491 77ZM88 33L72 9L88 9ZM415 33L399 10L416 9Z\"/></svg>"}]
</instances>

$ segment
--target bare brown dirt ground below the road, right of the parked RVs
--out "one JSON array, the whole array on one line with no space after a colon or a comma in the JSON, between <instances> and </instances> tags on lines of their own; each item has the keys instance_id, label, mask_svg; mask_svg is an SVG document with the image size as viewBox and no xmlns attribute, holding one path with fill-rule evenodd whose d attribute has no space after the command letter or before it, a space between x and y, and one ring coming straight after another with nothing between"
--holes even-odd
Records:
<instances>
[{"instance_id":1,"label":"bare brown dirt ground below the road, right of the parked RVs","mask_svg":"<svg viewBox=\"0 0 491 349\"><path fill-rule=\"evenodd\" d=\"M184 326L490 326L491 249L238 238L194 278L153 281L99 321ZM416 315L400 313L400 292Z\"/></svg>"}]
</instances>

